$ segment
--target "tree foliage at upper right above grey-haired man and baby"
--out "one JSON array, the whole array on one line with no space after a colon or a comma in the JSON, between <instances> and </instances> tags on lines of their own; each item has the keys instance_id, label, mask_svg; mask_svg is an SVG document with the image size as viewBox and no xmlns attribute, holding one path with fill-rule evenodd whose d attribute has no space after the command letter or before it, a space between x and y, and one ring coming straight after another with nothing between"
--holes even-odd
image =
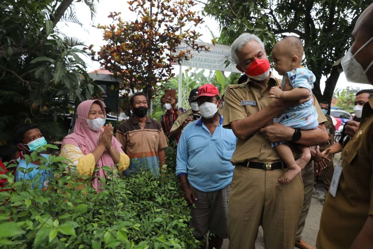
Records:
<instances>
[{"instance_id":1,"label":"tree foliage at upper right above grey-haired man and baby","mask_svg":"<svg viewBox=\"0 0 373 249\"><path fill-rule=\"evenodd\" d=\"M304 65L316 76L313 93L319 101L330 102L339 77L333 63L350 47L350 34L357 17L370 1L340 0L210 0L204 12L220 25L218 43L231 45L244 32L256 34L265 44L267 55L276 40L289 33L304 43ZM327 77L322 93L320 79Z\"/></svg>"}]
</instances>

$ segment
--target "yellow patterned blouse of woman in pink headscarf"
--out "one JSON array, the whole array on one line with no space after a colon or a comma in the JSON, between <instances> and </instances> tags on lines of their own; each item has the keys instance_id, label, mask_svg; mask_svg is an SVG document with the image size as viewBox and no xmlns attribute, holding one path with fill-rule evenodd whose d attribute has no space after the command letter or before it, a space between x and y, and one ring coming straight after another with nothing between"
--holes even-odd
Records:
<instances>
[{"instance_id":1,"label":"yellow patterned blouse of woman in pink headscarf","mask_svg":"<svg viewBox=\"0 0 373 249\"><path fill-rule=\"evenodd\" d=\"M65 144L61 148L60 156L71 160L76 165L80 175L92 176L95 165L95 159L92 153L84 155L81 149L72 144ZM129 166L129 157L125 153L120 153L118 170L123 171Z\"/></svg>"}]
</instances>

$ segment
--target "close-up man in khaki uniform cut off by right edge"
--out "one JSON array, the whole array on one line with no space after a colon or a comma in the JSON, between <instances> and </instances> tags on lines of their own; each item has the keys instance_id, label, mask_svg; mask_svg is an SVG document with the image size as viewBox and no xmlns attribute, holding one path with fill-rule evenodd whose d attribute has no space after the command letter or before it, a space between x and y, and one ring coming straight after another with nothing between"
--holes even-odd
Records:
<instances>
[{"instance_id":1,"label":"close-up man in khaki uniform cut off by right edge","mask_svg":"<svg viewBox=\"0 0 373 249\"><path fill-rule=\"evenodd\" d=\"M342 59L350 82L373 85L373 4L359 16L352 45ZM351 58L351 54L353 58ZM356 134L342 150L342 175L336 196L327 194L317 235L318 249L373 246L373 98L364 104ZM338 172L337 170L335 170ZM233 176L234 177L234 176Z\"/></svg>"}]
</instances>

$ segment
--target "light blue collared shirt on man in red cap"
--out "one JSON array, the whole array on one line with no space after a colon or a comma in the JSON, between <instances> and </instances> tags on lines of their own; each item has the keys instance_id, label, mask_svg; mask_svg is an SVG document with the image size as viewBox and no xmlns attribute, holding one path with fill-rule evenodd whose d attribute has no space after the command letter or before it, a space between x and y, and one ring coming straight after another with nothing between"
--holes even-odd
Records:
<instances>
[{"instance_id":1,"label":"light blue collared shirt on man in red cap","mask_svg":"<svg viewBox=\"0 0 373 249\"><path fill-rule=\"evenodd\" d=\"M178 144L176 175L187 175L189 184L200 191L220 190L232 182L231 157L237 138L222 126L223 117L213 135L198 119L185 126Z\"/></svg>"}]
</instances>

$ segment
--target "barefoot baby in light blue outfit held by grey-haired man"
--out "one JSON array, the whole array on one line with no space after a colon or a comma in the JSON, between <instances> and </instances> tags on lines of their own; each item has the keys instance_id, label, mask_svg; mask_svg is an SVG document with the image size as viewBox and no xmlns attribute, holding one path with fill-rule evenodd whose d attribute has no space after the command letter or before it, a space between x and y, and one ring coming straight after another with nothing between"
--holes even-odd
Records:
<instances>
[{"instance_id":1,"label":"barefoot baby in light blue outfit held by grey-haired man","mask_svg":"<svg viewBox=\"0 0 373 249\"><path fill-rule=\"evenodd\" d=\"M283 78L281 89L277 86L272 87L269 98L300 100L312 96L316 77L310 70L301 67L302 57L303 44L296 36L287 36L275 44L272 50L272 58L275 62L273 67ZM316 108L312 103L313 98L303 104L286 108L279 118L274 119L274 122L299 130L316 129L319 123ZM277 151L288 168L279 179L285 184L298 175L311 159L310 147L301 144L295 146L302 153L297 162L286 141L272 144L272 148Z\"/></svg>"}]
</instances>

